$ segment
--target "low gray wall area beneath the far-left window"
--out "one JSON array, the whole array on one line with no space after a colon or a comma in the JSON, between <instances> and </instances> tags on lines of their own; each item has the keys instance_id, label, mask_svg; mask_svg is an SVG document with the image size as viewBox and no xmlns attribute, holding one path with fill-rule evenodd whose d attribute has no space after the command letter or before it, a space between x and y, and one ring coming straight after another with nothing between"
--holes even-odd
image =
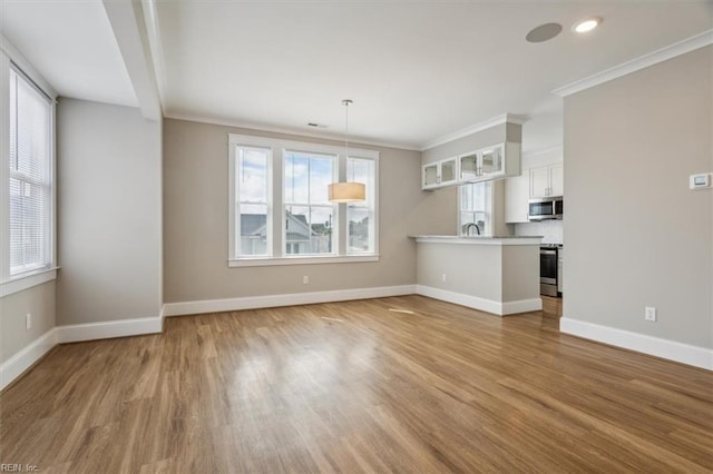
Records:
<instances>
[{"instance_id":1,"label":"low gray wall area beneath the far-left window","mask_svg":"<svg viewBox=\"0 0 713 474\"><path fill-rule=\"evenodd\" d=\"M25 328L25 315L32 328ZM55 282L0 298L0 364L55 327Z\"/></svg>"}]
</instances>

